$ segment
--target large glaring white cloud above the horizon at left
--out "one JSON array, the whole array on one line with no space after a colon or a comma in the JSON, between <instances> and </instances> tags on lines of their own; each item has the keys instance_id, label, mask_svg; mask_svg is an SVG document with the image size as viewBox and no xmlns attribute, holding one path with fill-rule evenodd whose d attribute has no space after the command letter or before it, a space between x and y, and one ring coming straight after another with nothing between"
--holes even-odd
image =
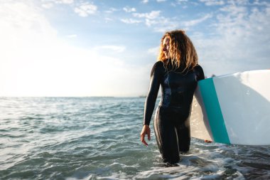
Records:
<instances>
[{"instance_id":1,"label":"large glaring white cloud above the horizon at left","mask_svg":"<svg viewBox=\"0 0 270 180\"><path fill-rule=\"evenodd\" d=\"M0 96L129 96L148 84L148 67L113 55L124 46L63 43L42 11L26 1L0 4L0 14Z\"/></svg>"}]
</instances>

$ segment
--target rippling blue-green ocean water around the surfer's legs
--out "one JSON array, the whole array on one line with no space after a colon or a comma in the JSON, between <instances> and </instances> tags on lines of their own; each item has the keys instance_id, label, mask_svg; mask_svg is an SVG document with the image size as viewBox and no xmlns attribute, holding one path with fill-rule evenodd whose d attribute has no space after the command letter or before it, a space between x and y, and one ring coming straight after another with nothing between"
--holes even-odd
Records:
<instances>
[{"instance_id":1,"label":"rippling blue-green ocean water around the surfer's legs","mask_svg":"<svg viewBox=\"0 0 270 180\"><path fill-rule=\"evenodd\" d=\"M0 179L270 179L269 146L192 139L166 166L153 127L139 140L144 100L0 97Z\"/></svg>"}]
</instances>

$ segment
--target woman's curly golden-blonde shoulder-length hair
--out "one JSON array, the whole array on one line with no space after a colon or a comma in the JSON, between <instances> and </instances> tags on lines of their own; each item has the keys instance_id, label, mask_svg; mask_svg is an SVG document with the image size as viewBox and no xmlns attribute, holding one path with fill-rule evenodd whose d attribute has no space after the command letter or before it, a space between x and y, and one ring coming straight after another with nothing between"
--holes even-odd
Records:
<instances>
[{"instance_id":1,"label":"woman's curly golden-blonde shoulder-length hair","mask_svg":"<svg viewBox=\"0 0 270 180\"><path fill-rule=\"evenodd\" d=\"M168 57L166 58L163 52L163 40L168 37L170 39L170 48ZM198 55L190 41L190 38L185 34L183 30L175 30L166 32L161 38L161 46L158 55L158 60L163 61L166 65L171 60L171 64L175 68L193 69L195 65L198 65Z\"/></svg>"}]
</instances>

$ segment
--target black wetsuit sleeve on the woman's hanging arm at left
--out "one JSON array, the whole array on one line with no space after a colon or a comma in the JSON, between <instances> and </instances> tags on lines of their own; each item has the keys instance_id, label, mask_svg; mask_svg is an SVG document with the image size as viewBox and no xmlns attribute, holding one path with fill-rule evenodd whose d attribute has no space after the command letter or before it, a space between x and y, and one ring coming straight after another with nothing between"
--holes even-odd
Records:
<instances>
[{"instance_id":1,"label":"black wetsuit sleeve on the woman's hanging arm at left","mask_svg":"<svg viewBox=\"0 0 270 180\"><path fill-rule=\"evenodd\" d=\"M144 125L150 124L153 115L156 97L158 96L158 90L161 84L162 70L163 63L161 61L156 62L151 70L150 87L144 105Z\"/></svg>"}]
</instances>

